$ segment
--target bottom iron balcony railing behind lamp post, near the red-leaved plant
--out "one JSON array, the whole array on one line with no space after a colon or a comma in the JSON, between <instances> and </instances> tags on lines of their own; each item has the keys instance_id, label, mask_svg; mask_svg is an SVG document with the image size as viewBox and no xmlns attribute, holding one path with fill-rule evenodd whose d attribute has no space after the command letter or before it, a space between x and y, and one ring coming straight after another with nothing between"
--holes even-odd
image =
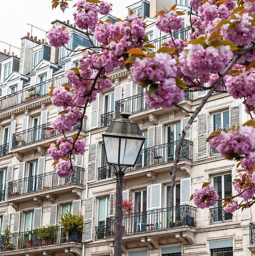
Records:
<instances>
[{"instance_id":1,"label":"bottom iron balcony railing behind lamp post, near the red-leaved plant","mask_svg":"<svg viewBox=\"0 0 255 256\"><path fill-rule=\"evenodd\" d=\"M187 204L123 215L122 234L158 231L178 226L196 227L197 207ZM114 234L114 217L106 218L104 226L96 227L96 239Z\"/></svg>"}]
</instances>

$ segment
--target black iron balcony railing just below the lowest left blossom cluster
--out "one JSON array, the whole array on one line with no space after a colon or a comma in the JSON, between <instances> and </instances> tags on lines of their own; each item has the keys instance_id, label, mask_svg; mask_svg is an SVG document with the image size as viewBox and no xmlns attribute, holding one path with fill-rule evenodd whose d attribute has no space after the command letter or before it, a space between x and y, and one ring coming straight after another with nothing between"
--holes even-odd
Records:
<instances>
[{"instance_id":1,"label":"black iron balcony railing just below the lowest left blossom cluster","mask_svg":"<svg viewBox=\"0 0 255 256\"><path fill-rule=\"evenodd\" d=\"M10 181L8 184L8 198L74 183L83 185L83 175L84 168L75 166L72 175L67 178L59 178L56 172L53 171Z\"/></svg>"}]
</instances>

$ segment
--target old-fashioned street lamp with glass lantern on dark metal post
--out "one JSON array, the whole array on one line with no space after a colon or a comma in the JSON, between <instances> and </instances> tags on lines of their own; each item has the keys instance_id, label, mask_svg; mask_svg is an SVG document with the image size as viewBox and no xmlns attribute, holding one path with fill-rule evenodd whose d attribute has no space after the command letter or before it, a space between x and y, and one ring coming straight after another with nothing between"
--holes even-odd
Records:
<instances>
[{"instance_id":1,"label":"old-fashioned street lamp with glass lantern on dark metal post","mask_svg":"<svg viewBox=\"0 0 255 256\"><path fill-rule=\"evenodd\" d=\"M106 161L115 168L116 176L114 256L121 256L124 171L128 167L135 166L145 140L138 123L128 118L130 113L122 112L120 115L121 118L112 121L107 130L102 133Z\"/></svg>"}]
</instances>

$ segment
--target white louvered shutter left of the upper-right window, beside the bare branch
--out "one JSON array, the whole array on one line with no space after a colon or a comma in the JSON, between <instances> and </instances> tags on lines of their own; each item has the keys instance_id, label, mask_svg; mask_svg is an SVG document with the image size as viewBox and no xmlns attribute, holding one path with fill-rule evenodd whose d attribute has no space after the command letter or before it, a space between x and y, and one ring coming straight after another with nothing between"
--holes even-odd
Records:
<instances>
[{"instance_id":1,"label":"white louvered shutter left of the upper-right window, beside the bare branch","mask_svg":"<svg viewBox=\"0 0 255 256\"><path fill-rule=\"evenodd\" d=\"M207 113L197 116L197 158L207 157Z\"/></svg>"}]
</instances>

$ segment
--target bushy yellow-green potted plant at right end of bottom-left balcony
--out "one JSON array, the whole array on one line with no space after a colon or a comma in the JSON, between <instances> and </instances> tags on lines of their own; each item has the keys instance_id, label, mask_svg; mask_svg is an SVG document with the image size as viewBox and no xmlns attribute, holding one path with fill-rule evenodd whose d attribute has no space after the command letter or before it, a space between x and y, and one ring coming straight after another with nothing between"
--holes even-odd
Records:
<instances>
[{"instance_id":1,"label":"bushy yellow-green potted plant at right end of bottom-left balcony","mask_svg":"<svg viewBox=\"0 0 255 256\"><path fill-rule=\"evenodd\" d=\"M80 240L83 227L83 215L81 213L75 215L66 212L60 217L59 223L63 226L63 231L66 233L69 242L78 242L75 239L76 234L78 234L78 239Z\"/></svg>"}]
</instances>

